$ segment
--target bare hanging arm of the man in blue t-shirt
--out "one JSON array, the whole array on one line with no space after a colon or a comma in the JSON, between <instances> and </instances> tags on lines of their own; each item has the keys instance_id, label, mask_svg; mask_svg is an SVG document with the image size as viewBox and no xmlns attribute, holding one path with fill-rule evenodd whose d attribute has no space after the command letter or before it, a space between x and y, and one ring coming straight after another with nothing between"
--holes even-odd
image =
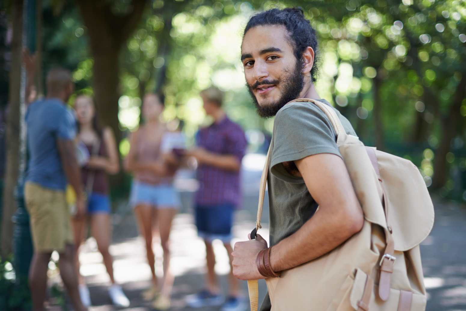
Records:
<instances>
[{"instance_id":1,"label":"bare hanging arm of the man in blue t-shirt","mask_svg":"<svg viewBox=\"0 0 466 311\"><path fill-rule=\"evenodd\" d=\"M57 148L68 183L75 189L76 193L76 214L74 218L82 219L86 215L86 207L84 200L82 200L81 172L76 160L75 144L71 139L58 138Z\"/></svg>"}]
</instances>

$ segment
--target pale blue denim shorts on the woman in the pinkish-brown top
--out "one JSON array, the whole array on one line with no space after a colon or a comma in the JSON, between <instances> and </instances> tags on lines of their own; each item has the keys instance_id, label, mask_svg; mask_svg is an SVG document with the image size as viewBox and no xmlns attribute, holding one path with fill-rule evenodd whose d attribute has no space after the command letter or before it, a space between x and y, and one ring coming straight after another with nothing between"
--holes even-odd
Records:
<instances>
[{"instance_id":1,"label":"pale blue denim shorts on the woman in the pinkish-brown top","mask_svg":"<svg viewBox=\"0 0 466 311\"><path fill-rule=\"evenodd\" d=\"M133 180L130 204L133 208L139 204L147 204L156 208L178 208L180 200L172 184L151 185Z\"/></svg>"}]
</instances>

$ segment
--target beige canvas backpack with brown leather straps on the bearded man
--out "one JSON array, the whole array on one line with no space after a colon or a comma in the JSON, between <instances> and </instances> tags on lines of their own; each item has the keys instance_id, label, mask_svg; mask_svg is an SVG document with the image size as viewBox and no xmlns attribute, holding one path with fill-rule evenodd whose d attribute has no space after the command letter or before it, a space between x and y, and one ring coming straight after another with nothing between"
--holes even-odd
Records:
<instances>
[{"instance_id":1,"label":"beige canvas backpack with brown leather straps on the bearded man","mask_svg":"<svg viewBox=\"0 0 466 311\"><path fill-rule=\"evenodd\" d=\"M282 271L280 277L267 278L272 311L425 310L419 243L432 229L434 210L418 168L346 134L330 106L306 98L293 102L302 101L316 104L329 117L363 208L364 224L331 252ZM268 158L269 154L262 171L256 230L260 228ZM257 311L257 280L248 281L248 288L251 311Z\"/></svg>"}]
</instances>

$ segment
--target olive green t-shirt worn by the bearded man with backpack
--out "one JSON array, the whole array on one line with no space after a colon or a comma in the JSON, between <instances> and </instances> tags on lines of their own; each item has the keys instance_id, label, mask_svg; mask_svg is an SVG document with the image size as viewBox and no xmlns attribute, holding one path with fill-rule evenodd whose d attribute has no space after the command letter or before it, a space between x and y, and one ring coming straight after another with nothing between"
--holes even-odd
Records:
<instances>
[{"instance_id":1,"label":"olive green t-shirt worn by the bearded man with backpack","mask_svg":"<svg viewBox=\"0 0 466 311\"><path fill-rule=\"evenodd\" d=\"M324 99L319 101L331 106ZM345 131L356 136L348 119L334 110ZM274 120L267 178L270 246L295 233L317 209L317 203L302 177L288 173L282 163L318 153L333 153L341 157L336 145L336 132L327 115L311 102L294 102L281 108ZM270 308L267 293L260 310Z\"/></svg>"}]
</instances>

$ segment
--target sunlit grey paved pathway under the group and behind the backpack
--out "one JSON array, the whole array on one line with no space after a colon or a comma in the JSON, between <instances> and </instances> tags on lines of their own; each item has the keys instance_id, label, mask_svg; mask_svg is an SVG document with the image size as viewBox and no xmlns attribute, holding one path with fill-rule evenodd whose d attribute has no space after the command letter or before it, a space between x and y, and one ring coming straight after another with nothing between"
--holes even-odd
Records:
<instances>
[{"instance_id":1,"label":"sunlit grey paved pathway under the group and behind the backpack","mask_svg":"<svg viewBox=\"0 0 466 311\"><path fill-rule=\"evenodd\" d=\"M257 193L257 192L256 192ZM185 202L190 196L185 194ZM257 197L247 194L245 210L237 212L233 243L245 240L254 228L254 217ZM266 202L267 203L267 202ZM171 233L172 273L176 276L172 295L171 310L194 310L185 306L183 297L195 293L203 287L205 271L204 244L196 235L189 204L178 214L173 222ZM421 253L425 273L425 284L428 289L427 311L466 311L466 206L454 202L434 200L436 220L431 235L422 243ZM264 221L268 221L267 208L264 209ZM113 232L113 244L110 248L115 258L114 270L117 282L123 284L123 290L131 300L127 311L153 310L150 303L144 302L140 294L150 285L150 269L144 256L144 243L137 236L137 228L132 214L116 216L117 224ZM262 230L268 236L267 223ZM217 241L218 242L218 241ZM161 248L156 249L156 271L162 273ZM217 258L215 270L220 275L224 292L227 289L226 274L229 271L226 250L221 242L214 242ZM89 239L82 249L82 274L86 277L91 291L93 307L91 311L111 311L116 308L110 304L106 292L108 276L102 264L102 257L96 251L96 244ZM51 272L51 276L54 272ZM54 278L51 282L56 282ZM242 283L247 296L247 283ZM260 282L260 301L265 295L265 282ZM219 308L205 308L206 311Z\"/></svg>"}]
</instances>

